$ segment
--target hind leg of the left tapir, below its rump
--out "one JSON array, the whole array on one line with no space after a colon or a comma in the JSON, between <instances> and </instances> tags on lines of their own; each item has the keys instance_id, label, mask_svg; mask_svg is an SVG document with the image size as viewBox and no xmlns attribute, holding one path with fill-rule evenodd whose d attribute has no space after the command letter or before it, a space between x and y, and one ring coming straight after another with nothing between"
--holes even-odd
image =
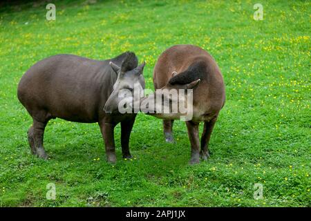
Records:
<instances>
[{"instance_id":1,"label":"hind leg of the left tapir, below its rump","mask_svg":"<svg viewBox=\"0 0 311 221\"><path fill-rule=\"evenodd\" d=\"M48 122L39 122L33 119L33 124L28 130L28 142L30 144L31 152L38 157L47 159L48 155L44 151L44 128Z\"/></svg>"}]
</instances>

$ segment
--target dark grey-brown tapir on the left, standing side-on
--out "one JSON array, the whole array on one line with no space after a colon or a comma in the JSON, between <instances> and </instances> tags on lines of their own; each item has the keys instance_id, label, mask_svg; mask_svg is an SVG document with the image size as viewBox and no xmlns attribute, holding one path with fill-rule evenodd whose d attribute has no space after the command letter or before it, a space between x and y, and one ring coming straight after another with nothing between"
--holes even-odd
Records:
<instances>
[{"instance_id":1,"label":"dark grey-brown tapir on the left, standing side-on","mask_svg":"<svg viewBox=\"0 0 311 221\"><path fill-rule=\"evenodd\" d=\"M136 114L105 113L104 106L118 101L117 92L122 87L139 84L144 88L143 68L133 52L102 61L55 55L37 62L21 77L17 90L19 101L33 119L28 130L32 153L47 157L44 128L50 119L59 117L72 122L97 122L108 162L116 161L113 130L121 123L122 155L131 157L129 137Z\"/></svg>"}]
</instances>

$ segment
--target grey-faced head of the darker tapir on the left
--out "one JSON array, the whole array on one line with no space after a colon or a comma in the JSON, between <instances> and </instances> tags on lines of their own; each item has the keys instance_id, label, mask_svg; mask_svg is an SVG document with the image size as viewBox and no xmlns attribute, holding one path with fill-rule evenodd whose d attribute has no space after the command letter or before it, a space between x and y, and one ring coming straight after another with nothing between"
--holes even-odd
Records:
<instances>
[{"instance_id":1,"label":"grey-faced head of the darker tapir on the left","mask_svg":"<svg viewBox=\"0 0 311 221\"><path fill-rule=\"evenodd\" d=\"M117 80L113 85L113 92L104 106L106 113L132 113L129 111L130 106L126 106L126 104L131 104L144 95L145 83L142 72L145 62L140 66L137 66L137 62L134 53L129 53L120 67L113 61L110 62L111 68L117 74ZM133 66L133 63L136 65Z\"/></svg>"}]
</instances>

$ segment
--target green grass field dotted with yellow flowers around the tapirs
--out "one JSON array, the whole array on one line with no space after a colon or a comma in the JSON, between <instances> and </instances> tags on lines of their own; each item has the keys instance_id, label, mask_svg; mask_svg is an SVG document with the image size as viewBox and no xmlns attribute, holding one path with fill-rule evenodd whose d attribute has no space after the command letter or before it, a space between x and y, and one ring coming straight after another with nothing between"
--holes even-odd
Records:
<instances>
[{"instance_id":1,"label":"green grass field dotted with yellow flowers around the tapirs","mask_svg":"<svg viewBox=\"0 0 311 221\"><path fill-rule=\"evenodd\" d=\"M46 21L45 3L1 6L0 206L311 206L310 1L261 1L263 21L253 19L254 1L87 2L55 1L56 21ZM32 64L132 50L153 88L156 59L174 44L209 51L225 78L207 162L189 166L184 122L174 125L177 144L167 144L162 121L143 114L133 160L122 160L120 126L111 166L97 124L62 119L46 128L50 160L30 154L17 84ZM48 183L56 200L46 200Z\"/></svg>"}]
</instances>

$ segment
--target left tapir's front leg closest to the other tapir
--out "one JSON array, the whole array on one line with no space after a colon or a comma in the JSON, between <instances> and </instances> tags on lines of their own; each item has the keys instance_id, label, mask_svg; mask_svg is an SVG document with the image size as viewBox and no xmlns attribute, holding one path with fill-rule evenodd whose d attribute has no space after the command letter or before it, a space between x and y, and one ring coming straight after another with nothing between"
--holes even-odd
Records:
<instances>
[{"instance_id":1,"label":"left tapir's front leg closest to the other tapir","mask_svg":"<svg viewBox=\"0 0 311 221\"><path fill-rule=\"evenodd\" d=\"M135 122L135 117L133 119L121 122L121 146L123 158L131 158L131 153L129 151L129 138Z\"/></svg>"}]
</instances>

